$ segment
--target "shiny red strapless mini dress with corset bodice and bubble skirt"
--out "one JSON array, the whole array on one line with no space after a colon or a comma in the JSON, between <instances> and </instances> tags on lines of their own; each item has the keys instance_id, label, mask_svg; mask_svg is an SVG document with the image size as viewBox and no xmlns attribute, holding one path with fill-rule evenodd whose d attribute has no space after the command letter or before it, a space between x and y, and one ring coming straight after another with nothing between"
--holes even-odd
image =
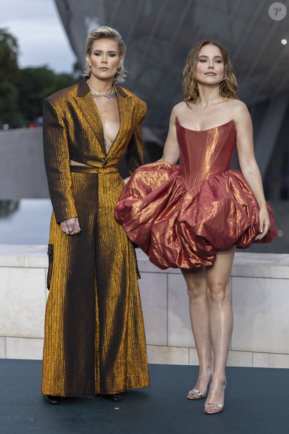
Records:
<instances>
[{"instance_id":1,"label":"shiny red strapless mini dress with corset bodice and bubble skirt","mask_svg":"<svg viewBox=\"0 0 289 434\"><path fill-rule=\"evenodd\" d=\"M234 120L194 131L176 118L180 163L139 167L124 188L115 217L128 237L161 269L212 265L217 250L247 248L259 233L259 208L240 171L229 170ZM278 234L271 227L260 242ZM258 242L258 241L257 241Z\"/></svg>"}]
</instances>

